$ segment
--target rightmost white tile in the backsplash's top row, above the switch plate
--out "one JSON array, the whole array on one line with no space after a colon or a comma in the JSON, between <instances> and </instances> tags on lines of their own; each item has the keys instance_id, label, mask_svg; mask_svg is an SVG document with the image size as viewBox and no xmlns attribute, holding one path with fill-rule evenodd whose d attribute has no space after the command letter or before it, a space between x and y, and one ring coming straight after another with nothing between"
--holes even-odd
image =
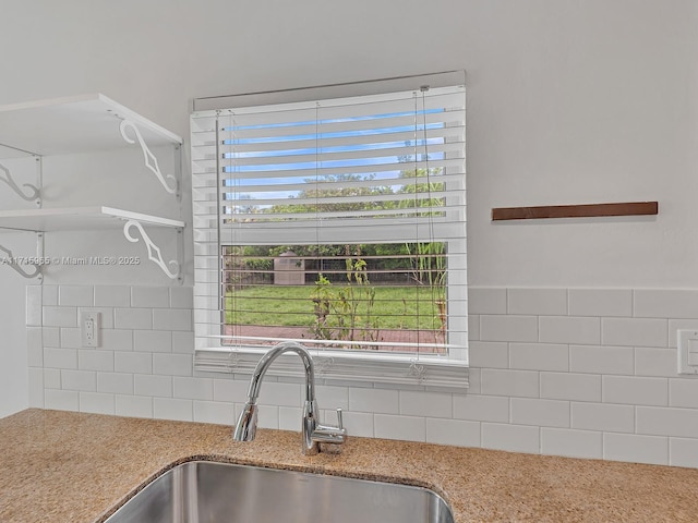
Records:
<instances>
[{"instance_id":1,"label":"rightmost white tile in the backsplash's top row, above the switch plate","mask_svg":"<svg viewBox=\"0 0 698 523\"><path fill-rule=\"evenodd\" d=\"M698 291L636 290L634 315L638 318L698 318Z\"/></svg>"}]
</instances>

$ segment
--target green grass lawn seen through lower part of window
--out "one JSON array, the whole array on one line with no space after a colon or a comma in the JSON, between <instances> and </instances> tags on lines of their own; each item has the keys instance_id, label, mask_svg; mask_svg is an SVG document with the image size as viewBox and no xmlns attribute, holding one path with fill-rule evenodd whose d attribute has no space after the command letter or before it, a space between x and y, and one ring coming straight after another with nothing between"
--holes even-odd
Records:
<instances>
[{"instance_id":1,"label":"green grass lawn seen through lower part of window","mask_svg":"<svg viewBox=\"0 0 698 523\"><path fill-rule=\"evenodd\" d=\"M441 329L441 319L435 302L437 297L429 287L373 287L373 305L368 303L369 288L354 285L357 324L366 319L380 329ZM349 293L347 285L332 285L330 292ZM257 285L230 291L226 296L226 323L228 325L265 325L284 327L309 327L316 323L313 296L314 285ZM335 306L339 302L333 301ZM330 317L337 315L330 309Z\"/></svg>"}]
</instances>

